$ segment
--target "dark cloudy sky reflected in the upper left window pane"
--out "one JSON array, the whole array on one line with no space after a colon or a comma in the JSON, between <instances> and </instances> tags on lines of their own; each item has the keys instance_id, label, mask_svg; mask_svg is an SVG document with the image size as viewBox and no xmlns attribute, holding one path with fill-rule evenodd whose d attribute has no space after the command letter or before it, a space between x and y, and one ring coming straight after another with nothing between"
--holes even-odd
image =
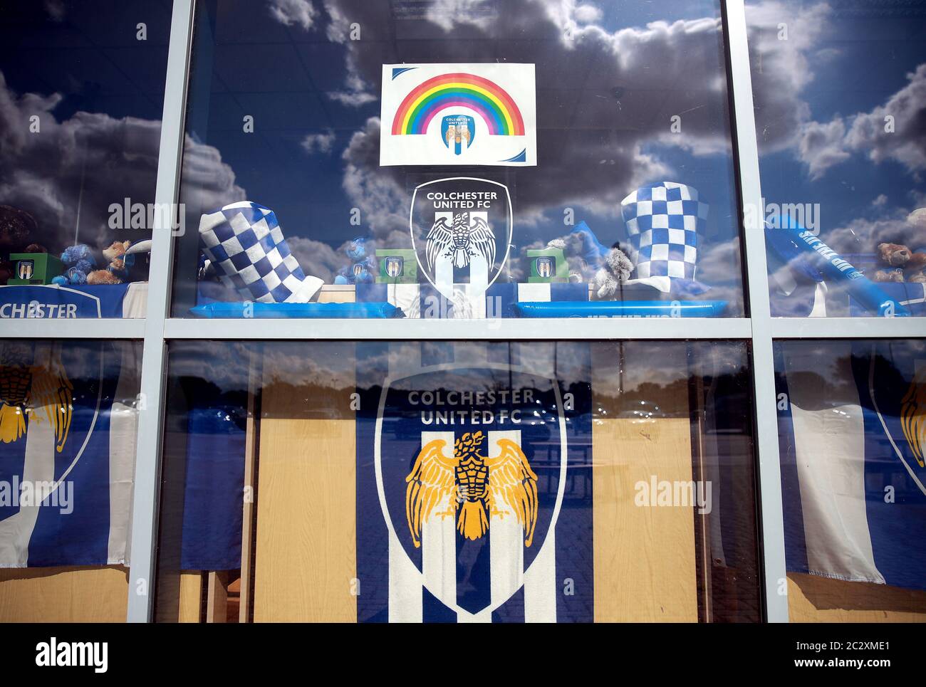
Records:
<instances>
[{"instance_id":1,"label":"dark cloudy sky reflected in the upper left window pane","mask_svg":"<svg viewBox=\"0 0 926 687\"><path fill-rule=\"evenodd\" d=\"M108 208L154 201L170 6L0 6L0 204L36 220L27 244L59 254L75 237L102 248L150 236L110 229ZM4 259L24 247L0 240Z\"/></svg>"}]
</instances>

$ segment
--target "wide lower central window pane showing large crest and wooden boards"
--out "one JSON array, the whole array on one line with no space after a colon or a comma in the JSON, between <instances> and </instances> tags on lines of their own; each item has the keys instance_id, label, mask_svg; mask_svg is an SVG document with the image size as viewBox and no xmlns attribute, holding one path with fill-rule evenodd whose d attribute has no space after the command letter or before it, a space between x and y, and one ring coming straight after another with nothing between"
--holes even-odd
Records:
<instances>
[{"instance_id":1,"label":"wide lower central window pane showing large crest and wooden boards","mask_svg":"<svg viewBox=\"0 0 926 687\"><path fill-rule=\"evenodd\" d=\"M756 621L748 380L732 342L173 342L156 618Z\"/></svg>"}]
</instances>

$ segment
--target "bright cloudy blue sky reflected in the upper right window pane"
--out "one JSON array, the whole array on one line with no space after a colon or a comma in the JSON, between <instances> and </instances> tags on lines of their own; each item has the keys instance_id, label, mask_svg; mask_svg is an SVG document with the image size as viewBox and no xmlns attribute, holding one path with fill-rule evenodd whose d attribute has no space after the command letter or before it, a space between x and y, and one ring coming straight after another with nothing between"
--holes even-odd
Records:
<instances>
[{"instance_id":1,"label":"bright cloudy blue sky reflected in the upper right window pane","mask_svg":"<svg viewBox=\"0 0 926 687\"><path fill-rule=\"evenodd\" d=\"M926 209L909 217L926 207L926 3L747 2L746 18L767 202L820 204L844 254L926 249Z\"/></svg>"}]
</instances>

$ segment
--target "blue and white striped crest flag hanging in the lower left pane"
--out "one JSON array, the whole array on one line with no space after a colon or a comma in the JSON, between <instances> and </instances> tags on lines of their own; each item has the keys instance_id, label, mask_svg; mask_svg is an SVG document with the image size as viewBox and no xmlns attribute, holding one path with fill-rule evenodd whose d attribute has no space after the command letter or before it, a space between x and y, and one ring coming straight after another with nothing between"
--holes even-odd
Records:
<instances>
[{"instance_id":1,"label":"blue and white striped crest flag hanging in the lower left pane","mask_svg":"<svg viewBox=\"0 0 926 687\"><path fill-rule=\"evenodd\" d=\"M0 346L0 568L126 562L138 354Z\"/></svg>"}]
</instances>

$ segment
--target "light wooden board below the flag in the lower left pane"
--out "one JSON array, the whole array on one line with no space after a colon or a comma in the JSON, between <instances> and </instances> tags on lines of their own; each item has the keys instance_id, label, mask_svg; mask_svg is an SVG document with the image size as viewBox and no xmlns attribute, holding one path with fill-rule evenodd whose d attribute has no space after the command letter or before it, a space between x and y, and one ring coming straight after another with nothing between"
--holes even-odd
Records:
<instances>
[{"instance_id":1,"label":"light wooden board below the flag in the lower left pane","mask_svg":"<svg viewBox=\"0 0 926 687\"><path fill-rule=\"evenodd\" d=\"M129 570L0 569L0 622L125 622Z\"/></svg>"}]
</instances>

